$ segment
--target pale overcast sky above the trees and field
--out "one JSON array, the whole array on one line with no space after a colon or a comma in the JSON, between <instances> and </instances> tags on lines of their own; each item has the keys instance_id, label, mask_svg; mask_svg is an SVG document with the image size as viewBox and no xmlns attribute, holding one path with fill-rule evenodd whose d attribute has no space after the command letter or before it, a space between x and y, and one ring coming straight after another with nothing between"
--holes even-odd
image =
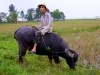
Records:
<instances>
[{"instance_id":1,"label":"pale overcast sky above the trees and field","mask_svg":"<svg viewBox=\"0 0 100 75\"><path fill-rule=\"evenodd\" d=\"M26 12L41 3L45 3L50 11L63 11L66 19L100 17L100 0L0 0L0 12L8 13L10 4L14 4L18 11Z\"/></svg>"}]
</instances>

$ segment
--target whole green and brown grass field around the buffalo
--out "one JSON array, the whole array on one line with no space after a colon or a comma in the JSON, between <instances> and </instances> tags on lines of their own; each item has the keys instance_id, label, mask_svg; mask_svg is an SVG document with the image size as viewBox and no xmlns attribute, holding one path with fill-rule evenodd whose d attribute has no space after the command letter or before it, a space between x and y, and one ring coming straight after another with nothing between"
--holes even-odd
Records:
<instances>
[{"instance_id":1,"label":"whole green and brown grass field around the buffalo","mask_svg":"<svg viewBox=\"0 0 100 75\"><path fill-rule=\"evenodd\" d=\"M100 75L100 20L54 21L53 32L68 42L81 54L76 64L76 71L69 69L63 58L60 58L62 70L59 71L53 62L50 66L47 56L28 55L25 67L18 63L18 45L13 34L16 29L25 25L38 25L39 22L17 24L0 24L0 75Z\"/></svg>"}]
</instances>

